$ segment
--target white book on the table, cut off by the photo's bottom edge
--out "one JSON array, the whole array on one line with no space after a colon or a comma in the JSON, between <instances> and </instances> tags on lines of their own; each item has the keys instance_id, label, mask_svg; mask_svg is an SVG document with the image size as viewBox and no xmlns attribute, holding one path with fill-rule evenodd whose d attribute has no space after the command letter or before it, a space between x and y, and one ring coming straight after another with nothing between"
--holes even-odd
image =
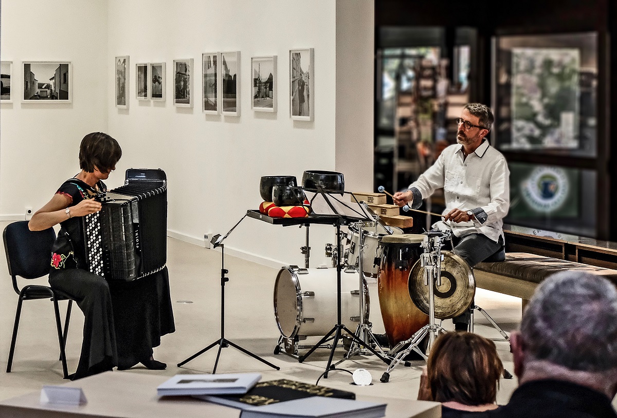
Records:
<instances>
[{"instance_id":1,"label":"white book on the table, cut off by the photo's bottom edge","mask_svg":"<svg viewBox=\"0 0 617 418\"><path fill-rule=\"evenodd\" d=\"M240 418L379 418L386 404L311 396L243 409Z\"/></svg>"}]
</instances>

